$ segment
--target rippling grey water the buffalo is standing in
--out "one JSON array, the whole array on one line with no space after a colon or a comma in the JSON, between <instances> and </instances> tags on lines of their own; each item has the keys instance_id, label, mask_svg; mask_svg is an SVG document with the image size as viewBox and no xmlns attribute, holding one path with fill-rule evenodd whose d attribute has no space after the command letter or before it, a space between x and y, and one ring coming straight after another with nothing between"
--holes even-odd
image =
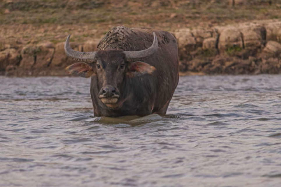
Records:
<instances>
[{"instance_id":1,"label":"rippling grey water the buffalo is standing in","mask_svg":"<svg viewBox=\"0 0 281 187\"><path fill-rule=\"evenodd\" d=\"M89 84L0 77L0 186L281 185L281 75L180 77L165 117L93 117Z\"/></svg>"}]
</instances>

